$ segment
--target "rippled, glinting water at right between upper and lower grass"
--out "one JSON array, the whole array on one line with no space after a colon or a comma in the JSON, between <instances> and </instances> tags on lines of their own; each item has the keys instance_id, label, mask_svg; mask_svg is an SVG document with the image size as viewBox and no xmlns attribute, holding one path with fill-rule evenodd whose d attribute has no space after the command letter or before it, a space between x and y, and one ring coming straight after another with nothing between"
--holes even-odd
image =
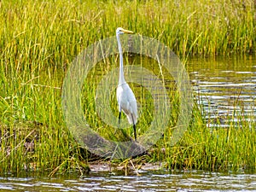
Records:
<instances>
[{"instance_id":1,"label":"rippled, glinting water at right between upper and lower grass","mask_svg":"<svg viewBox=\"0 0 256 192\"><path fill-rule=\"evenodd\" d=\"M191 59L189 78L210 125L240 118L255 121L256 58Z\"/></svg>"}]
</instances>

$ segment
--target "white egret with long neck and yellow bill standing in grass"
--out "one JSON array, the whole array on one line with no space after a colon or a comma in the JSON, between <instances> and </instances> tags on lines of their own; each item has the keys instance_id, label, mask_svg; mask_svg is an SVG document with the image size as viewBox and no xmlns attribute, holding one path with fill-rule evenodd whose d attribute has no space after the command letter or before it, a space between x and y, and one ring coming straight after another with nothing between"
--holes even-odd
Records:
<instances>
[{"instance_id":1,"label":"white egret with long neck and yellow bill standing in grass","mask_svg":"<svg viewBox=\"0 0 256 192\"><path fill-rule=\"evenodd\" d=\"M137 101L132 92L129 84L125 82L124 69L123 69L123 51L120 43L120 34L133 33L129 30L125 30L118 27L116 30L116 38L119 47L119 84L116 90L117 101L119 103L119 124L121 119L121 111L123 111L130 124L133 125L134 139L137 140L136 135L136 123L137 123Z\"/></svg>"}]
</instances>

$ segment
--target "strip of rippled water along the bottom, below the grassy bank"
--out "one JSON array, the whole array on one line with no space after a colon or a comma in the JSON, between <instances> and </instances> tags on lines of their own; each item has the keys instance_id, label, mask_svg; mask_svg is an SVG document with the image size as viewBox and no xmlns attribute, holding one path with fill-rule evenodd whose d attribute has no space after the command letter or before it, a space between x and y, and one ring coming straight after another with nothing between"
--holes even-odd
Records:
<instances>
[{"instance_id":1,"label":"strip of rippled water along the bottom, below the grassy bank","mask_svg":"<svg viewBox=\"0 0 256 192\"><path fill-rule=\"evenodd\" d=\"M219 172L91 172L78 177L0 177L0 191L255 191L256 175Z\"/></svg>"}]
</instances>

